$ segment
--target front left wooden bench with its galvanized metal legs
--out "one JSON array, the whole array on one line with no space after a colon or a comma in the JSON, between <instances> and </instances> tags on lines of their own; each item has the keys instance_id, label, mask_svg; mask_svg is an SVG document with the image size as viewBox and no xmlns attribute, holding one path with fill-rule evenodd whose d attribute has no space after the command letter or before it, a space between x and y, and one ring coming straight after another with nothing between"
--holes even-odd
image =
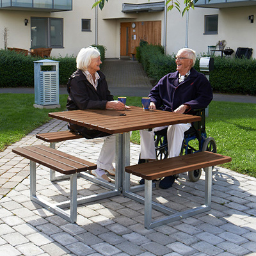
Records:
<instances>
[{"instance_id":1,"label":"front left wooden bench with its galvanized metal legs","mask_svg":"<svg viewBox=\"0 0 256 256\"><path fill-rule=\"evenodd\" d=\"M12 150L15 154L26 157L30 160L30 198L37 204L52 211L71 223L77 218L77 173L97 168L96 164L90 163L75 156L71 156L54 148L45 145L18 147ZM59 204L51 204L36 196L36 163L70 175L70 200ZM83 200L79 198L80 204ZM61 208L70 206L70 213Z\"/></svg>"}]
</instances>

